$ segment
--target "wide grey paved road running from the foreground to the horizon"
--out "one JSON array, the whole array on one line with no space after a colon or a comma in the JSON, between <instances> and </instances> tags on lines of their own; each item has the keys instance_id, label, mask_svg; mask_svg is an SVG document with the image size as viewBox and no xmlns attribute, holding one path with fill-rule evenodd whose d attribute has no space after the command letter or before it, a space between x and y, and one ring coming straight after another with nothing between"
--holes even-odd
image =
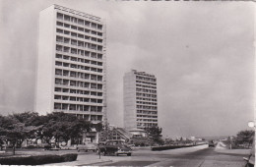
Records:
<instances>
[{"instance_id":1,"label":"wide grey paved road running from the foreground to the horizon","mask_svg":"<svg viewBox=\"0 0 256 167\"><path fill-rule=\"evenodd\" d=\"M242 167L243 155L219 153L213 147L166 151L137 150L131 157L112 157L112 162L96 166L174 166L174 167Z\"/></svg>"}]
</instances>

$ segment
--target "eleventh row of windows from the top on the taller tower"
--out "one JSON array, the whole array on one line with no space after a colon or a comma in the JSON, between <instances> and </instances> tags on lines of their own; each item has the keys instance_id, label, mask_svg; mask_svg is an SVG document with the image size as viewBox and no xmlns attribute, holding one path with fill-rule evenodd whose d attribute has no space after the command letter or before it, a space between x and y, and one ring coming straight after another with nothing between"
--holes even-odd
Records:
<instances>
[{"instance_id":1,"label":"eleventh row of windows from the top on the taller tower","mask_svg":"<svg viewBox=\"0 0 256 167\"><path fill-rule=\"evenodd\" d=\"M92 102L92 103L102 103L102 99L96 98L83 98L76 96L67 96L67 95L54 95L56 100L67 100L67 101L79 101L79 102Z\"/></svg>"}]
</instances>

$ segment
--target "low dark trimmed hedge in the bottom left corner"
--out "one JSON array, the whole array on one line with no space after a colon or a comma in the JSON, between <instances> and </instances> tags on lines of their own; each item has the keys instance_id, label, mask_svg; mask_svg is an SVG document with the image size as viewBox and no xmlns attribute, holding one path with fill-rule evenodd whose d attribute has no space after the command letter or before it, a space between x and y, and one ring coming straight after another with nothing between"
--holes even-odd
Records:
<instances>
[{"instance_id":1,"label":"low dark trimmed hedge in the bottom left corner","mask_svg":"<svg viewBox=\"0 0 256 167\"><path fill-rule=\"evenodd\" d=\"M42 165L47 163L59 163L77 160L78 154L69 153L63 155L36 155L0 158L1 165Z\"/></svg>"}]
</instances>

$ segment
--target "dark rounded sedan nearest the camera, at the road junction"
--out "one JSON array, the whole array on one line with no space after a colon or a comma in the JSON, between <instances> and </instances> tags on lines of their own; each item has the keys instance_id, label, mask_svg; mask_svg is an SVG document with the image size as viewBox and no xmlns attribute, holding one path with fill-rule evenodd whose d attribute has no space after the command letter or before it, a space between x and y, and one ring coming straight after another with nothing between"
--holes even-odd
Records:
<instances>
[{"instance_id":1,"label":"dark rounded sedan nearest the camera, at the road junction","mask_svg":"<svg viewBox=\"0 0 256 167\"><path fill-rule=\"evenodd\" d=\"M123 140L109 140L104 145L98 147L99 152L103 155L114 154L116 156L120 154L126 154L127 156L132 155L132 149L124 143Z\"/></svg>"}]
</instances>

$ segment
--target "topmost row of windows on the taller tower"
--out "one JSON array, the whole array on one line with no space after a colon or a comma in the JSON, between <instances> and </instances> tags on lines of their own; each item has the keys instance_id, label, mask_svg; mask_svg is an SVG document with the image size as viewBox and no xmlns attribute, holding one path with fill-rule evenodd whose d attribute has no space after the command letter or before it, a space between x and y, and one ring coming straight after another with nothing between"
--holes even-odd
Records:
<instances>
[{"instance_id":1,"label":"topmost row of windows on the taller tower","mask_svg":"<svg viewBox=\"0 0 256 167\"><path fill-rule=\"evenodd\" d=\"M94 23L94 22L90 22L90 21L86 21L83 19L79 19L73 16L68 16L65 14L61 14L61 13L57 13L57 19L58 20L63 20L63 21L68 21L74 24L78 24L81 26L86 26L86 27L90 27L90 28L96 28L96 29L102 29L102 25Z\"/></svg>"}]
</instances>

